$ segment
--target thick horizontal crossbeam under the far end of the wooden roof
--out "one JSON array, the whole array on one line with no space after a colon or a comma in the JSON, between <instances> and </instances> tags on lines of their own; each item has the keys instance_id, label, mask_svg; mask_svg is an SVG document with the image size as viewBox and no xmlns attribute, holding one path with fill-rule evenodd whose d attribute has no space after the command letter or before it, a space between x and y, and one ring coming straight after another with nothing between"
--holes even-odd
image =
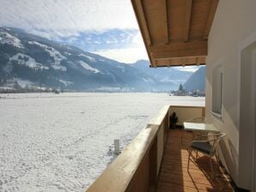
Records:
<instances>
[{"instance_id":1,"label":"thick horizontal crossbeam under the far end of the wooden roof","mask_svg":"<svg viewBox=\"0 0 256 192\"><path fill-rule=\"evenodd\" d=\"M159 51L159 52L152 52L152 56L154 59L166 59L166 58L174 58L174 57L200 57L200 56L207 56L207 49Z\"/></svg>"}]
</instances>

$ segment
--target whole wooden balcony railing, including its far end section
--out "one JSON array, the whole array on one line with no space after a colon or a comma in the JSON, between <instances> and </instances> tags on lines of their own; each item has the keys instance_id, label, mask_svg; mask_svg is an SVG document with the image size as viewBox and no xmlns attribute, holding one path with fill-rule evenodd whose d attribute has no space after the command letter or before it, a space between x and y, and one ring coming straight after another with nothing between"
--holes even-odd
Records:
<instances>
[{"instance_id":1,"label":"whole wooden balcony railing, including its far end section","mask_svg":"<svg viewBox=\"0 0 256 192\"><path fill-rule=\"evenodd\" d=\"M165 105L89 187L88 192L154 191L167 141L169 115L182 121L204 116L204 107Z\"/></svg>"}]
</instances>

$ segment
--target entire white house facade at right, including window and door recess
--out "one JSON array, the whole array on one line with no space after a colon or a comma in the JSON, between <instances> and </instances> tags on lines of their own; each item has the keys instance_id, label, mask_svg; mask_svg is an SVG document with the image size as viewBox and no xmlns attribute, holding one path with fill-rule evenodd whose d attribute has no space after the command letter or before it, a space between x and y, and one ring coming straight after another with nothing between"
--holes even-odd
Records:
<instances>
[{"instance_id":1,"label":"entire white house facade at right, including window and door recess","mask_svg":"<svg viewBox=\"0 0 256 192\"><path fill-rule=\"evenodd\" d=\"M219 1L206 57L206 119L227 134L221 159L235 184L256 190L256 1ZM218 109L220 106L220 109Z\"/></svg>"}]
</instances>

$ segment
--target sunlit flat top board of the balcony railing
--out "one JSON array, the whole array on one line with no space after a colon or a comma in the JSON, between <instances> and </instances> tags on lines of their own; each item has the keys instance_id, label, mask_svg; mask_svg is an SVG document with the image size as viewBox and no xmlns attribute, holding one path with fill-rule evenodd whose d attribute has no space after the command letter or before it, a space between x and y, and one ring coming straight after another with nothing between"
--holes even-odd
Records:
<instances>
[{"instance_id":1,"label":"sunlit flat top board of the balcony railing","mask_svg":"<svg viewBox=\"0 0 256 192\"><path fill-rule=\"evenodd\" d=\"M119 157L101 174L88 191L125 191L155 139L158 126L144 128Z\"/></svg>"}]
</instances>

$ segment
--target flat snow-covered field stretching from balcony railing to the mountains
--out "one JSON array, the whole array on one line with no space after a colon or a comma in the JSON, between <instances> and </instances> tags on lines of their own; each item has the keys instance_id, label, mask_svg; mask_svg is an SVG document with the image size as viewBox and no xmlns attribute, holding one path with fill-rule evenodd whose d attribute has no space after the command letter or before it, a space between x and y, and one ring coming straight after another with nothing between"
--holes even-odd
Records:
<instances>
[{"instance_id":1,"label":"flat snow-covered field stretching from balcony railing to the mountains","mask_svg":"<svg viewBox=\"0 0 256 192\"><path fill-rule=\"evenodd\" d=\"M163 105L167 93L0 94L0 191L85 191Z\"/></svg>"}]
</instances>

